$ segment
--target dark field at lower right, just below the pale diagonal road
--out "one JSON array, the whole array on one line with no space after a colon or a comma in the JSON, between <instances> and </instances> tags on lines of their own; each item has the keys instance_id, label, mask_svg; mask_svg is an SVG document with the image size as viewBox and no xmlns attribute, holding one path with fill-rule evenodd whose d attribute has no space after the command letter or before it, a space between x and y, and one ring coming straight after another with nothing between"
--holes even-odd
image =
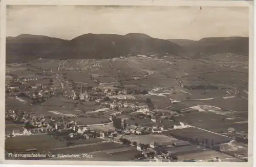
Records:
<instances>
[{"instance_id":1,"label":"dark field at lower right, just below the pale diagonal road","mask_svg":"<svg viewBox=\"0 0 256 167\"><path fill-rule=\"evenodd\" d=\"M184 128L184 129L176 129L176 130L169 130L163 132L163 134L168 135L168 136L173 136L176 138L184 139L184 140L189 140L191 139L198 139L198 141L202 141L203 139L208 139L209 144L211 144L212 140L214 143L224 143L224 142L229 142L231 139L229 137L225 137L219 134L214 134L210 133L201 129L197 128Z\"/></svg>"}]
</instances>

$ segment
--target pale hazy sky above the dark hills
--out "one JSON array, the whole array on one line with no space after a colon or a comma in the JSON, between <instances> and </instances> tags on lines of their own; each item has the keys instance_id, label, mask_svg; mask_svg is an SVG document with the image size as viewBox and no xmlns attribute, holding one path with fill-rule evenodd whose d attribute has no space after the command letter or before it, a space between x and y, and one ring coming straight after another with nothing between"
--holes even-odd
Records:
<instances>
[{"instance_id":1,"label":"pale hazy sky above the dark hills","mask_svg":"<svg viewBox=\"0 0 256 167\"><path fill-rule=\"evenodd\" d=\"M160 39L249 36L246 7L8 6L7 36L144 33Z\"/></svg>"}]
</instances>

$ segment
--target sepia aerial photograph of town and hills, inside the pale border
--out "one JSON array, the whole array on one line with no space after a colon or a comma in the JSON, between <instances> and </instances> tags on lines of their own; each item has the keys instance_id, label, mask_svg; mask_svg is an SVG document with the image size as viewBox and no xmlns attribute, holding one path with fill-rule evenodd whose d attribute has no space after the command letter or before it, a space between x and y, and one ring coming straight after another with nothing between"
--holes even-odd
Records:
<instances>
[{"instance_id":1,"label":"sepia aerial photograph of town and hills, inside the pale border","mask_svg":"<svg viewBox=\"0 0 256 167\"><path fill-rule=\"evenodd\" d=\"M7 5L5 159L244 165L249 25L246 6Z\"/></svg>"}]
</instances>

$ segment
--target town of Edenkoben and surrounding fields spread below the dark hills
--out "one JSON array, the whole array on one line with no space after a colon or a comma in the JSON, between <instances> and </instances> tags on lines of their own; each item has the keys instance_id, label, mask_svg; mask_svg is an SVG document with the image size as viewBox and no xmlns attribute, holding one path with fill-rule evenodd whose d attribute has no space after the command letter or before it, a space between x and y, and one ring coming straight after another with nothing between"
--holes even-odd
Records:
<instances>
[{"instance_id":1,"label":"town of Edenkoben and surrounding fields spread below the dark hills","mask_svg":"<svg viewBox=\"0 0 256 167\"><path fill-rule=\"evenodd\" d=\"M135 61L144 66L170 62L139 55L7 64L6 158L36 159L10 153L51 153L80 154L82 160L247 161L245 88L205 81L188 85L190 76L167 76L157 67L134 73L125 69L124 64L134 67ZM225 73L205 69L201 77ZM48 157L60 158L72 159Z\"/></svg>"}]
</instances>

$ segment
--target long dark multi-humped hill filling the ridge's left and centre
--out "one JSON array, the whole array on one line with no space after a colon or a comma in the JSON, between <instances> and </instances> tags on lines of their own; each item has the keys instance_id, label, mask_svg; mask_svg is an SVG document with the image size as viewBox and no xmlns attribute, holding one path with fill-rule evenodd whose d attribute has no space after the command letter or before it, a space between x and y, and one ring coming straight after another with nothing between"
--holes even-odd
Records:
<instances>
[{"instance_id":1,"label":"long dark multi-humped hill filling the ridge's left and centre","mask_svg":"<svg viewBox=\"0 0 256 167\"><path fill-rule=\"evenodd\" d=\"M182 56L173 42L145 34L84 34L72 40L39 35L7 37L7 62L47 59L107 59L126 55L171 54Z\"/></svg>"}]
</instances>

